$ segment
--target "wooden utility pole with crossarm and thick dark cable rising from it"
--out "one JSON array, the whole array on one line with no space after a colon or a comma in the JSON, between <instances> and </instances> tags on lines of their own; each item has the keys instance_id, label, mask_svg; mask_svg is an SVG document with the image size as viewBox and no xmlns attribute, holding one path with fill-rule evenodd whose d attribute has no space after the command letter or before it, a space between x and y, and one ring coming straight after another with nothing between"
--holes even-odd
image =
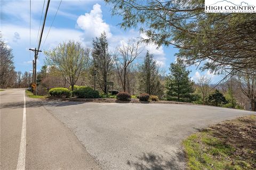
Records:
<instances>
[{"instance_id":1,"label":"wooden utility pole with crossarm and thick dark cable rising from it","mask_svg":"<svg viewBox=\"0 0 256 170\"><path fill-rule=\"evenodd\" d=\"M45 21L46 21L46 16L47 16L47 12L48 12L48 8L49 8L49 4L50 4L50 0L47 1L47 5L46 5L46 10L45 10L45 14L44 14L44 22L43 22L43 26L42 26L42 30L41 30L41 33L40 33L40 38L39 38L39 41L38 41L38 47L37 49L30 49L29 50L32 50L34 53L35 53L35 61L34 61L34 83L36 85L36 60L38 58L38 52L42 52L40 49L40 45L41 45L41 41L42 41L42 36L43 36L43 32L44 32L44 25L45 25ZM36 95L36 86L35 86L35 91L34 91L34 95Z\"/></svg>"}]
</instances>

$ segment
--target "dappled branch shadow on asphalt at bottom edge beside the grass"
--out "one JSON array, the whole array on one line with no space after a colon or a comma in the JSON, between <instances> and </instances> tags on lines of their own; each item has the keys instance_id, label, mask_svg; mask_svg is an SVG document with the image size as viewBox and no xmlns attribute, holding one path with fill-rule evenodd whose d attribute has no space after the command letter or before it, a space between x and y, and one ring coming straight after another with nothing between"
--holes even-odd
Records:
<instances>
[{"instance_id":1,"label":"dappled branch shadow on asphalt at bottom edge beside the grass","mask_svg":"<svg viewBox=\"0 0 256 170\"><path fill-rule=\"evenodd\" d=\"M180 151L172 155L171 160L166 160L162 155L153 153L143 153L137 157L136 162L127 161L127 165L134 167L136 170L170 170L170 169L185 169L185 152Z\"/></svg>"}]
</instances>

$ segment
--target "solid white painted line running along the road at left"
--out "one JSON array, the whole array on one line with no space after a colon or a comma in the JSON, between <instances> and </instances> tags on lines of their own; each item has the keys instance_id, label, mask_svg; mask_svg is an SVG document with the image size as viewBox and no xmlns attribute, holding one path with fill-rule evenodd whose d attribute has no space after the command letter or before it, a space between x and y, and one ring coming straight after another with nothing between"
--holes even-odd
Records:
<instances>
[{"instance_id":1,"label":"solid white painted line running along the road at left","mask_svg":"<svg viewBox=\"0 0 256 170\"><path fill-rule=\"evenodd\" d=\"M19 152L17 170L25 169L25 157L26 157L26 99L25 99L25 90L24 90L23 121L22 121L22 129L21 129L20 152Z\"/></svg>"}]
</instances>

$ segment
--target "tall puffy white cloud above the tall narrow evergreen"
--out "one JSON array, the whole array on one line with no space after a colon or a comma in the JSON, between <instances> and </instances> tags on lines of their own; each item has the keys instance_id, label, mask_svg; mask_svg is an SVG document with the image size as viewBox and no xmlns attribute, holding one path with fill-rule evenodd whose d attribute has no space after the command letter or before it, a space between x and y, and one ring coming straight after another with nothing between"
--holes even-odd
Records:
<instances>
[{"instance_id":1,"label":"tall puffy white cloud above the tall narrow evergreen","mask_svg":"<svg viewBox=\"0 0 256 170\"><path fill-rule=\"evenodd\" d=\"M107 38L112 36L109 25L102 19L101 6L99 4L93 5L90 13L80 15L77 19L77 27L84 30L84 39L92 40L94 37L99 37L105 31Z\"/></svg>"}]
</instances>

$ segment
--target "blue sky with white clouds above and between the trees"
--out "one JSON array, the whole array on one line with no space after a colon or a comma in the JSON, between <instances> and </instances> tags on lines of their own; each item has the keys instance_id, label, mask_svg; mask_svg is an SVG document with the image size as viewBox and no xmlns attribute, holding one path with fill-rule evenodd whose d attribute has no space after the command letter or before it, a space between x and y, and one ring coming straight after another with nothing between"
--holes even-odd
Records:
<instances>
[{"instance_id":1,"label":"blue sky with white clouds above and between the trees","mask_svg":"<svg viewBox=\"0 0 256 170\"><path fill-rule=\"evenodd\" d=\"M46 3L47 0L45 5ZM31 1L30 37L29 1L1 1L1 33L6 43L13 49L15 70L17 71L32 70L34 53L28 49L37 46L43 4L44 1ZM92 39L99 36L102 31L105 31L109 41L109 48L114 51L118 44L126 42L128 39L145 36L138 29L126 31L121 29L117 25L121 22L121 17L111 16L110 6L103 1L63 0L49 36L45 40L59 4L60 1L52 0L50 2L41 50L52 49L62 41L69 39L81 41L85 47L91 47ZM149 50L161 66L161 69L168 73L170 63L175 62L174 54L178 52L178 49L164 46L156 47L154 44L145 45L145 51ZM44 59L45 56L41 53L37 61L38 70L44 65ZM221 79L209 71L201 72L196 70L196 66L190 66L188 69L191 70L190 77L195 81L202 75L212 77L212 83Z\"/></svg>"}]
</instances>

